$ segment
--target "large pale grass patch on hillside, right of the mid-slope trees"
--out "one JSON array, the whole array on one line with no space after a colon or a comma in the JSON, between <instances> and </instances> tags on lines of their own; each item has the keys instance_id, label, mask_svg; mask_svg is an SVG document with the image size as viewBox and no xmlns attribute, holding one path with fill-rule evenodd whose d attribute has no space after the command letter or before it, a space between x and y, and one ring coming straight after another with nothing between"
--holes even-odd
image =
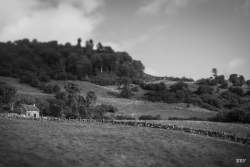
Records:
<instances>
[{"instance_id":1,"label":"large pale grass patch on hillside, right of the mid-slope trees","mask_svg":"<svg viewBox=\"0 0 250 167\"><path fill-rule=\"evenodd\" d=\"M162 119L169 117L180 118L209 118L214 116L216 112L202 109L200 107L186 107L185 104L167 104L159 102L146 102L140 100L118 99L118 98L101 98L103 103L111 104L119 109L118 114L133 115L157 115L160 114Z\"/></svg>"}]
</instances>

